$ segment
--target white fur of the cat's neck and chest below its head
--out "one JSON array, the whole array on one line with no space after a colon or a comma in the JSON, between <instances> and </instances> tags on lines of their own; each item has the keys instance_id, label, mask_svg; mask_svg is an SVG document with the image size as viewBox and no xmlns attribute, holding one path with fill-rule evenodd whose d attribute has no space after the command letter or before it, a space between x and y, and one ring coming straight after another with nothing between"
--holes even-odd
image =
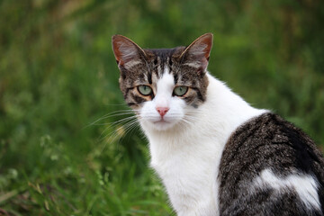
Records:
<instances>
[{"instance_id":1,"label":"white fur of the cat's neck and chest below its head","mask_svg":"<svg viewBox=\"0 0 324 216\"><path fill-rule=\"evenodd\" d=\"M180 216L219 214L217 175L226 141L244 121L266 112L208 78L207 100L196 109L191 124L158 131L140 122L149 140L151 166Z\"/></svg>"}]
</instances>

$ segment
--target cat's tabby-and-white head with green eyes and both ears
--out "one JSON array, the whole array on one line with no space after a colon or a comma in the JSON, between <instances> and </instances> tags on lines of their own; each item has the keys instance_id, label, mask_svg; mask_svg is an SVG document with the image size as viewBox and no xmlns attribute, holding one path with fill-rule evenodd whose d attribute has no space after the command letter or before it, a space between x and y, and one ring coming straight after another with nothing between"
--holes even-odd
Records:
<instances>
[{"instance_id":1,"label":"cat's tabby-and-white head with green eyes and both ears","mask_svg":"<svg viewBox=\"0 0 324 216\"><path fill-rule=\"evenodd\" d=\"M124 36L112 36L121 92L143 125L170 130L190 122L191 113L206 100L211 45L211 33L174 49L141 49Z\"/></svg>"}]
</instances>

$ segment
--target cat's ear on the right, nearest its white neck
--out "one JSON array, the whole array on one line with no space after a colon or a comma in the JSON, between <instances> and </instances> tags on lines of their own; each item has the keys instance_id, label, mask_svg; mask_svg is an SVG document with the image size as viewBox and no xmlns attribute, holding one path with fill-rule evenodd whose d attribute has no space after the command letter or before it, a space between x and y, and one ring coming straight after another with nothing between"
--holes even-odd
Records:
<instances>
[{"instance_id":1,"label":"cat's ear on the right, nearest its white neck","mask_svg":"<svg viewBox=\"0 0 324 216\"><path fill-rule=\"evenodd\" d=\"M200 73L204 73L208 66L212 46L212 33L205 33L192 42L180 58L184 65L196 67Z\"/></svg>"}]
</instances>

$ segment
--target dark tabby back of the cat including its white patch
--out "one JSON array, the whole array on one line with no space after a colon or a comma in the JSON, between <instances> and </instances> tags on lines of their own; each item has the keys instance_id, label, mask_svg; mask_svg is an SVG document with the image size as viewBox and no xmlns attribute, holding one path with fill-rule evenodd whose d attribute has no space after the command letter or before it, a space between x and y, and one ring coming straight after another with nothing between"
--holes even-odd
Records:
<instances>
[{"instance_id":1,"label":"dark tabby back of the cat including its white patch","mask_svg":"<svg viewBox=\"0 0 324 216\"><path fill-rule=\"evenodd\" d=\"M218 180L220 215L323 215L324 159L311 138L274 113L230 136Z\"/></svg>"}]
</instances>

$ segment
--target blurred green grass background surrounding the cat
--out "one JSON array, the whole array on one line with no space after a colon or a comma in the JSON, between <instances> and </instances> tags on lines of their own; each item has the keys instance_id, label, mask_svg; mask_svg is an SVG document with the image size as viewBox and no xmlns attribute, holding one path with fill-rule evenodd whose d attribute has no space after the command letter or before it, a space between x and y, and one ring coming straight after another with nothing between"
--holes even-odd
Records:
<instances>
[{"instance_id":1,"label":"blurred green grass background surrounding the cat","mask_svg":"<svg viewBox=\"0 0 324 216\"><path fill-rule=\"evenodd\" d=\"M1 0L0 215L174 214L146 139L105 116L127 109L116 33L170 48L212 32L211 74L323 148L323 22L321 0Z\"/></svg>"}]
</instances>

